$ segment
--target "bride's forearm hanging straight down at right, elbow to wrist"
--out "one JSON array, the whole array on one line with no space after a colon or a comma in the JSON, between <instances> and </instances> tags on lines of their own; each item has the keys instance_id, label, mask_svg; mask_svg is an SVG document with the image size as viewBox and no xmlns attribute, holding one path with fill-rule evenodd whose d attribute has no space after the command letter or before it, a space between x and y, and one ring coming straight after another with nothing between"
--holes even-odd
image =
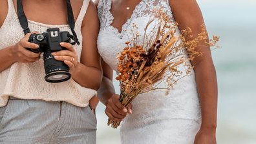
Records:
<instances>
[{"instance_id":1,"label":"bride's forearm hanging straight down at right, elbow to wrist","mask_svg":"<svg viewBox=\"0 0 256 144\"><path fill-rule=\"evenodd\" d=\"M211 60L200 61L195 65L197 89L202 111L201 129L217 127L217 76Z\"/></svg>"}]
</instances>

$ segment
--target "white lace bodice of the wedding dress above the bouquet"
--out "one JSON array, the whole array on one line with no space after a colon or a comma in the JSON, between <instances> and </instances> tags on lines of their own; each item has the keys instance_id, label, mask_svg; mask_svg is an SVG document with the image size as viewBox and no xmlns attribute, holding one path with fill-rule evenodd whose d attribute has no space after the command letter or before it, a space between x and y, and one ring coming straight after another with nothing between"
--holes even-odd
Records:
<instances>
[{"instance_id":1,"label":"white lace bodice of the wedding dress above the bouquet","mask_svg":"<svg viewBox=\"0 0 256 144\"><path fill-rule=\"evenodd\" d=\"M140 25L138 25L138 28L141 28L141 29L145 28L145 25L147 25L147 22L152 16L153 10L160 9L160 8L162 8L171 17L173 17L173 15L171 14L171 8L167 0L164 0L164 1L163 0L155 0L155 1L142 0L135 7L131 17L126 21L125 24L123 24L122 32L118 32L118 29L114 28L114 26L111 25L114 20L114 17L110 11L111 5L112 5L111 0L99 2L99 5L98 5L98 15L100 19L99 36L101 36L102 32L104 33L111 32L115 35L114 37L107 37L107 38L104 37L104 40L103 40L103 41L110 42L110 43L105 43L105 45L111 44L112 42L115 43L116 47L111 46L112 47L111 49L112 50L114 49L114 53L113 52L111 52L111 54L108 53L107 57L102 55L103 59L107 63L111 63L110 67L115 70L116 59L112 59L112 57L116 57L116 54L120 52L120 49L118 47L122 47L124 45L124 42L128 40L127 34L129 34L129 32L127 32L126 30L129 30L129 28L131 28L132 23L136 23L136 21L140 21L140 19L144 19L143 23L142 21L140 21ZM143 30L141 31L143 32ZM99 37L98 40L99 40L98 44L101 44L101 42L103 42L101 41L101 37ZM101 52L102 49L99 48L99 50ZM109 50L104 49L104 52L102 53L105 53L107 51Z\"/></svg>"}]
</instances>

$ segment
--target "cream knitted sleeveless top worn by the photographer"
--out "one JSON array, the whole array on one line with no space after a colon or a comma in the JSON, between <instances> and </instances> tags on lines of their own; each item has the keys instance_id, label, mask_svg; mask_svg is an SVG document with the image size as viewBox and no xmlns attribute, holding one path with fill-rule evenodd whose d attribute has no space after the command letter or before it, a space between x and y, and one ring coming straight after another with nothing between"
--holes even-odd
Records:
<instances>
[{"instance_id":1,"label":"cream knitted sleeveless top worn by the photographer","mask_svg":"<svg viewBox=\"0 0 256 144\"><path fill-rule=\"evenodd\" d=\"M80 39L80 46L74 45L78 61L80 61L83 37L81 24L89 6L89 0L84 0L74 30ZM46 25L28 20L31 32L46 32L47 28L58 27L60 31L72 34L69 25ZM0 48L15 45L24 37L23 28L14 8L13 0L8 0L8 14L0 28ZM96 90L81 87L74 79L62 83L48 83L44 79L45 69L43 56L34 63L14 63L10 68L0 72L0 107L6 105L9 96L20 99L42 99L45 101L66 101L78 107L87 107L89 100L96 95Z\"/></svg>"}]
</instances>

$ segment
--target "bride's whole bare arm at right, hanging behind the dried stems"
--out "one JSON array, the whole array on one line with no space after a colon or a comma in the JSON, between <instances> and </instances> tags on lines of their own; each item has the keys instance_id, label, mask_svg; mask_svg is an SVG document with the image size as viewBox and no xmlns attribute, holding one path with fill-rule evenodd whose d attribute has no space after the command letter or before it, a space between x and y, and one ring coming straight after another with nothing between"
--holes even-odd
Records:
<instances>
[{"instance_id":1,"label":"bride's whole bare arm at right, hanging behind the dried stems","mask_svg":"<svg viewBox=\"0 0 256 144\"><path fill-rule=\"evenodd\" d=\"M204 23L202 13L195 0L169 0L175 20L180 30L189 26L193 36L201 32ZM204 44L202 44L204 45ZM197 90L202 108L202 125L195 138L195 143L216 143L215 130L217 127L217 76L209 47L198 46L197 50L203 56L196 57L191 63L195 67Z\"/></svg>"}]
</instances>

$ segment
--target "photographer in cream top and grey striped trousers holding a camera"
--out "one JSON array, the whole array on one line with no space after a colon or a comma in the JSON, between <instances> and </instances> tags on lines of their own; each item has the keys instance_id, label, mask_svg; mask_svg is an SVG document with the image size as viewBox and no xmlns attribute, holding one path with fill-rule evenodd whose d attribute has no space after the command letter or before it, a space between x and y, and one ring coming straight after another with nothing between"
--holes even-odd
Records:
<instances>
[{"instance_id":1,"label":"photographer in cream top and grey striped trousers holding a camera","mask_svg":"<svg viewBox=\"0 0 256 144\"><path fill-rule=\"evenodd\" d=\"M1 1L0 143L96 143L98 31L89 0Z\"/></svg>"}]
</instances>

